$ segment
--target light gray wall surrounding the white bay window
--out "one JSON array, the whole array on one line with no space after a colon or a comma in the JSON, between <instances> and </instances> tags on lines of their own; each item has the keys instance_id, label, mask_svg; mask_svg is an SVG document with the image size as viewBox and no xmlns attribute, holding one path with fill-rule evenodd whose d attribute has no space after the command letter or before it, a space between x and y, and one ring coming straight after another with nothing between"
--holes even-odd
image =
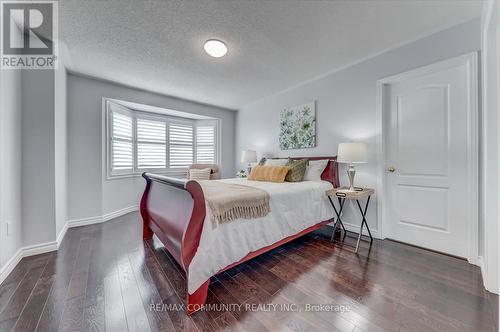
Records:
<instances>
[{"instance_id":1,"label":"light gray wall surrounding the white bay window","mask_svg":"<svg viewBox=\"0 0 500 332\"><path fill-rule=\"evenodd\" d=\"M141 177L106 180L102 98L216 117L222 121L221 169L233 176L235 112L70 74L68 93L68 219L99 217L139 204Z\"/></svg>"}]
</instances>

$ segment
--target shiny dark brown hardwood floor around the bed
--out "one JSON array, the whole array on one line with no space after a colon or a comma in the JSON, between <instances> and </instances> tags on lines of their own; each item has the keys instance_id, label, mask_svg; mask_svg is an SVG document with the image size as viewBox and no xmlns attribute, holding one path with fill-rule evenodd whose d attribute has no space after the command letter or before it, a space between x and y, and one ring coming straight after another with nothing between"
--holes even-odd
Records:
<instances>
[{"instance_id":1,"label":"shiny dark brown hardwood floor around the bed","mask_svg":"<svg viewBox=\"0 0 500 332\"><path fill-rule=\"evenodd\" d=\"M477 267L391 241L363 242L356 255L353 238L331 244L330 231L213 278L214 310L188 317L167 310L184 303L185 276L142 241L138 213L73 228L58 252L24 258L0 285L0 331L497 330L498 296ZM281 310L248 310L259 304ZM333 311L285 310L307 304Z\"/></svg>"}]
</instances>

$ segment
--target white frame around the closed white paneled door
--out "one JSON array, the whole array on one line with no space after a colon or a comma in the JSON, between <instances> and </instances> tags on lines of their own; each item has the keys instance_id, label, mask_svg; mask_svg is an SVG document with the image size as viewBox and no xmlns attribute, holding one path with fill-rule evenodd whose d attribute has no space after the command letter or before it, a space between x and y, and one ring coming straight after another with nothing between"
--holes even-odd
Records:
<instances>
[{"instance_id":1,"label":"white frame around the closed white paneled door","mask_svg":"<svg viewBox=\"0 0 500 332\"><path fill-rule=\"evenodd\" d=\"M469 263L478 264L478 222L479 222L479 121L478 121L478 52L464 54L458 57L439 61L424 67L409 70L394 76L386 77L377 81L377 226L382 239L386 238L384 226L387 226L388 219L386 213L387 199L387 135L389 134L389 106L386 100L387 86L398 83L410 78L416 78L422 75L430 74L436 71L446 70L465 64L468 73L468 93L469 105L467 107L467 202L468 220L467 234L469 234L466 257Z\"/></svg>"}]
</instances>

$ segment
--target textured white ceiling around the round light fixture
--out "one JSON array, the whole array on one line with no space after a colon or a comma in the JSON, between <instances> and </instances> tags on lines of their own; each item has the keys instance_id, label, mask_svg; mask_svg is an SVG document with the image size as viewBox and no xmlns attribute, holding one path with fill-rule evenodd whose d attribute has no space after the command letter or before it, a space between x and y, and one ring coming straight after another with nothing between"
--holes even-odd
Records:
<instances>
[{"instance_id":1,"label":"textured white ceiling around the round light fixture","mask_svg":"<svg viewBox=\"0 0 500 332\"><path fill-rule=\"evenodd\" d=\"M63 0L69 69L238 109L478 17L481 1ZM219 38L223 58L203 51Z\"/></svg>"}]
</instances>

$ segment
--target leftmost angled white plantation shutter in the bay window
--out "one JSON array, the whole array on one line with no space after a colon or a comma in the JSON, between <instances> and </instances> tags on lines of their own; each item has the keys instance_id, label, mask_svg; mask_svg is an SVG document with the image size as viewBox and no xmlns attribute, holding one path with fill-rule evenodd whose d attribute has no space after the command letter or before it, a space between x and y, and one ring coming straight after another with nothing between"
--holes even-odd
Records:
<instances>
[{"instance_id":1,"label":"leftmost angled white plantation shutter in the bay window","mask_svg":"<svg viewBox=\"0 0 500 332\"><path fill-rule=\"evenodd\" d=\"M113 171L132 171L134 168L132 116L112 112L111 167Z\"/></svg>"}]
</instances>

